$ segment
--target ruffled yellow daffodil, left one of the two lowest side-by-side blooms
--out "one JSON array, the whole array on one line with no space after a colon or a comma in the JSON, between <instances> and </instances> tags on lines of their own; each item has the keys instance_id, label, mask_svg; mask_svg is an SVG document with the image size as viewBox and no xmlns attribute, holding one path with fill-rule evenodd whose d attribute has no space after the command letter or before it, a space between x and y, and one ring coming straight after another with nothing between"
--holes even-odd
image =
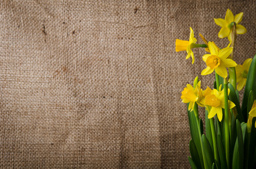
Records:
<instances>
[{"instance_id":1,"label":"ruffled yellow daffodil, left one of the two lowest side-by-side blooms","mask_svg":"<svg viewBox=\"0 0 256 169\"><path fill-rule=\"evenodd\" d=\"M200 101L203 99L201 81L197 83L196 88L193 88L190 84L186 84L186 87L181 92L181 99L183 103L189 103L188 110L194 109L194 104L197 103L199 106L203 106Z\"/></svg>"}]
</instances>

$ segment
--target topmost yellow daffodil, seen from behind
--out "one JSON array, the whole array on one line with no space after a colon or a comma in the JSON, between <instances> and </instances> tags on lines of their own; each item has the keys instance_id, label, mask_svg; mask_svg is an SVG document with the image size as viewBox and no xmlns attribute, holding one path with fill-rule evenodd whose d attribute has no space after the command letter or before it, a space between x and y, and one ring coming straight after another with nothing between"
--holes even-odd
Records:
<instances>
[{"instance_id":1,"label":"topmost yellow daffodil, seen from behind","mask_svg":"<svg viewBox=\"0 0 256 169\"><path fill-rule=\"evenodd\" d=\"M242 21L242 15L244 13L241 12L240 14L237 14L235 17L232 14L231 10L227 10L227 13L225 15L225 19L219 18L215 19L214 21L217 25L221 26L222 29L220 29L220 32L218 34L219 38L225 38L228 37L228 40L231 42L231 35L232 35L232 22L236 23L236 33L237 34L244 34L247 32L246 28L242 25L238 25Z\"/></svg>"}]
</instances>

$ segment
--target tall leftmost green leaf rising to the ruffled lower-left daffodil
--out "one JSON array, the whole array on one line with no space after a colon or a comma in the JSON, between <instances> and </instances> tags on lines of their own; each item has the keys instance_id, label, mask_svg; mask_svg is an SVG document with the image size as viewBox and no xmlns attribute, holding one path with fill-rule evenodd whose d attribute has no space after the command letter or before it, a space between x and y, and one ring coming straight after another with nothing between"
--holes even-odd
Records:
<instances>
[{"instance_id":1,"label":"tall leftmost green leaf rising to the ruffled lower-left daffodil","mask_svg":"<svg viewBox=\"0 0 256 169\"><path fill-rule=\"evenodd\" d=\"M199 138L197 120L196 120L196 116L194 115L193 111L190 112L188 110L188 119L189 119L190 134L191 134L192 140L193 140L193 142L194 142L194 144L196 145L196 148L197 148L197 153L199 155L201 168L204 168L203 154L202 154L202 148L201 148L201 141L200 141L200 138Z\"/></svg>"}]
</instances>

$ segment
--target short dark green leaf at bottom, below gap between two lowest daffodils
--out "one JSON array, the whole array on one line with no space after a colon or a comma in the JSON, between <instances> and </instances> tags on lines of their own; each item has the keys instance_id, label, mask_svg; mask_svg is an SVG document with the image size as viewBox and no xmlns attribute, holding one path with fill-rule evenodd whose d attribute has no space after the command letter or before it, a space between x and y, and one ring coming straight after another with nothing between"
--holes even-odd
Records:
<instances>
[{"instance_id":1,"label":"short dark green leaf at bottom, below gap between two lowest daffodils","mask_svg":"<svg viewBox=\"0 0 256 169\"><path fill-rule=\"evenodd\" d=\"M203 143L203 150L205 150L205 155L207 157L206 165L208 166L208 168L211 168L212 163L214 163L214 155L211 150L211 145L205 135L202 135L202 143Z\"/></svg>"}]
</instances>

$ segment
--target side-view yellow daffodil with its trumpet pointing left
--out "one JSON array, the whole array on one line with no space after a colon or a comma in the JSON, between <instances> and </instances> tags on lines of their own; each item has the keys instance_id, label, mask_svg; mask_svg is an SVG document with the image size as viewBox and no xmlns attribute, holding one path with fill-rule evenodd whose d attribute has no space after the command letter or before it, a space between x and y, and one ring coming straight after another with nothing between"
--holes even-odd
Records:
<instances>
[{"instance_id":1,"label":"side-view yellow daffodil with its trumpet pointing left","mask_svg":"<svg viewBox=\"0 0 256 169\"><path fill-rule=\"evenodd\" d=\"M194 38L194 32L192 28L190 27L190 37L189 41L183 41L180 39L176 39L176 52L179 51L186 51L188 55L186 55L186 59L189 59L190 56L192 56L192 64L194 64L194 53L192 52L192 48L194 48L193 44L197 42L197 39Z\"/></svg>"}]
</instances>

